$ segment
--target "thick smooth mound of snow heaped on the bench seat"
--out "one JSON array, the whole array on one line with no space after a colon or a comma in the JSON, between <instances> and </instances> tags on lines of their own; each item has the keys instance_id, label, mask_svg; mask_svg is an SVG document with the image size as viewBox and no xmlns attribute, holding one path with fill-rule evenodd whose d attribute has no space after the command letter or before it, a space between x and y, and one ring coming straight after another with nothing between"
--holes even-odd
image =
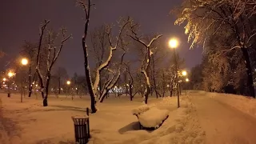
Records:
<instances>
[{"instance_id":1,"label":"thick smooth mound of snow heaped on the bench seat","mask_svg":"<svg viewBox=\"0 0 256 144\"><path fill-rule=\"evenodd\" d=\"M169 110L159 110L152 107L150 110L138 115L138 122L146 128L158 128L168 117Z\"/></svg>"}]
</instances>

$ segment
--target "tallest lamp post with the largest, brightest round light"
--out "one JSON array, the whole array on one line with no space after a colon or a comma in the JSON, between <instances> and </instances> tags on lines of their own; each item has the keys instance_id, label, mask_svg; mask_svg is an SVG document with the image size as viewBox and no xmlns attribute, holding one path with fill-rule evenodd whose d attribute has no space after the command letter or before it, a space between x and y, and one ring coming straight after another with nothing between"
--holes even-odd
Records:
<instances>
[{"instance_id":1,"label":"tallest lamp post with the largest, brightest round light","mask_svg":"<svg viewBox=\"0 0 256 144\"><path fill-rule=\"evenodd\" d=\"M177 62L177 58L176 58L176 53L175 53L175 49L178 47L178 40L176 38L171 38L169 41L169 46L171 49L174 50L174 70L175 70L175 77L174 77L174 82L176 84L176 94L177 94L177 103L178 103L178 108L180 107L179 105L179 86L178 86L178 62Z\"/></svg>"}]
</instances>

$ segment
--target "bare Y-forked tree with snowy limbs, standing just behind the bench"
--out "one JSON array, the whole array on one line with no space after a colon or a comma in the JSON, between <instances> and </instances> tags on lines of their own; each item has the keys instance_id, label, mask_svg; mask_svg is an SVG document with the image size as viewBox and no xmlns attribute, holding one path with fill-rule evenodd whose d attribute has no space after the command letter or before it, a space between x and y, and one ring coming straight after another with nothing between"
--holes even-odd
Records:
<instances>
[{"instance_id":1,"label":"bare Y-forked tree with snowy limbs, standing just behind the bench","mask_svg":"<svg viewBox=\"0 0 256 144\"><path fill-rule=\"evenodd\" d=\"M138 24L134 24L132 26L130 26L130 32L131 34L129 35L130 38L134 39L134 41L139 42L140 44L142 44L142 46L144 46L145 50L146 50L146 55L144 56L144 61L142 61L142 66L141 66L141 72L142 74L144 74L144 77L146 79L146 89L144 92L144 102L147 104L147 100L150 94L150 69L149 69L149 65L150 65L150 59L151 56L153 54L151 48L151 45L154 41L158 40L158 38L162 37L162 34L159 34L157 36L155 36L154 38L152 38L150 40L150 42L148 44L146 44L143 40L142 40L142 36L138 36L137 33L138 30Z\"/></svg>"}]
</instances>

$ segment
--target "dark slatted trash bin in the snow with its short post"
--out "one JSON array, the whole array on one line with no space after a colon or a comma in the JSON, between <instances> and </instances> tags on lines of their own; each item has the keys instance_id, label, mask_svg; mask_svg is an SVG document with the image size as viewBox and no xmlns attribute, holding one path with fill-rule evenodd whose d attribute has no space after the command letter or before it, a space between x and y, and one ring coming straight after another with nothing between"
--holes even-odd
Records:
<instances>
[{"instance_id":1,"label":"dark slatted trash bin in the snow with its short post","mask_svg":"<svg viewBox=\"0 0 256 144\"><path fill-rule=\"evenodd\" d=\"M90 138L90 126L89 126L89 116L88 108L86 109L85 116L74 116L72 117L74 122L74 138L75 142L79 144L86 144Z\"/></svg>"}]
</instances>

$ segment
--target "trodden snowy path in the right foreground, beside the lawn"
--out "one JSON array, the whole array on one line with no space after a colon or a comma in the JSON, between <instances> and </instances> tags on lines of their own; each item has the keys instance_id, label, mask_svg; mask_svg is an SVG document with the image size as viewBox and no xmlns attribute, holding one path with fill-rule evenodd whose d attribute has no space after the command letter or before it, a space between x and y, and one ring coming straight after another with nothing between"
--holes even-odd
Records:
<instances>
[{"instance_id":1,"label":"trodden snowy path in the right foreground, beside the lawn","mask_svg":"<svg viewBox=\"0 0 256 144\"><path fill-rule=\"evenodd\" d=\"M255 144L256 119L206 95L191 95L206 143Z\"/></svg>"}]
</instances>

